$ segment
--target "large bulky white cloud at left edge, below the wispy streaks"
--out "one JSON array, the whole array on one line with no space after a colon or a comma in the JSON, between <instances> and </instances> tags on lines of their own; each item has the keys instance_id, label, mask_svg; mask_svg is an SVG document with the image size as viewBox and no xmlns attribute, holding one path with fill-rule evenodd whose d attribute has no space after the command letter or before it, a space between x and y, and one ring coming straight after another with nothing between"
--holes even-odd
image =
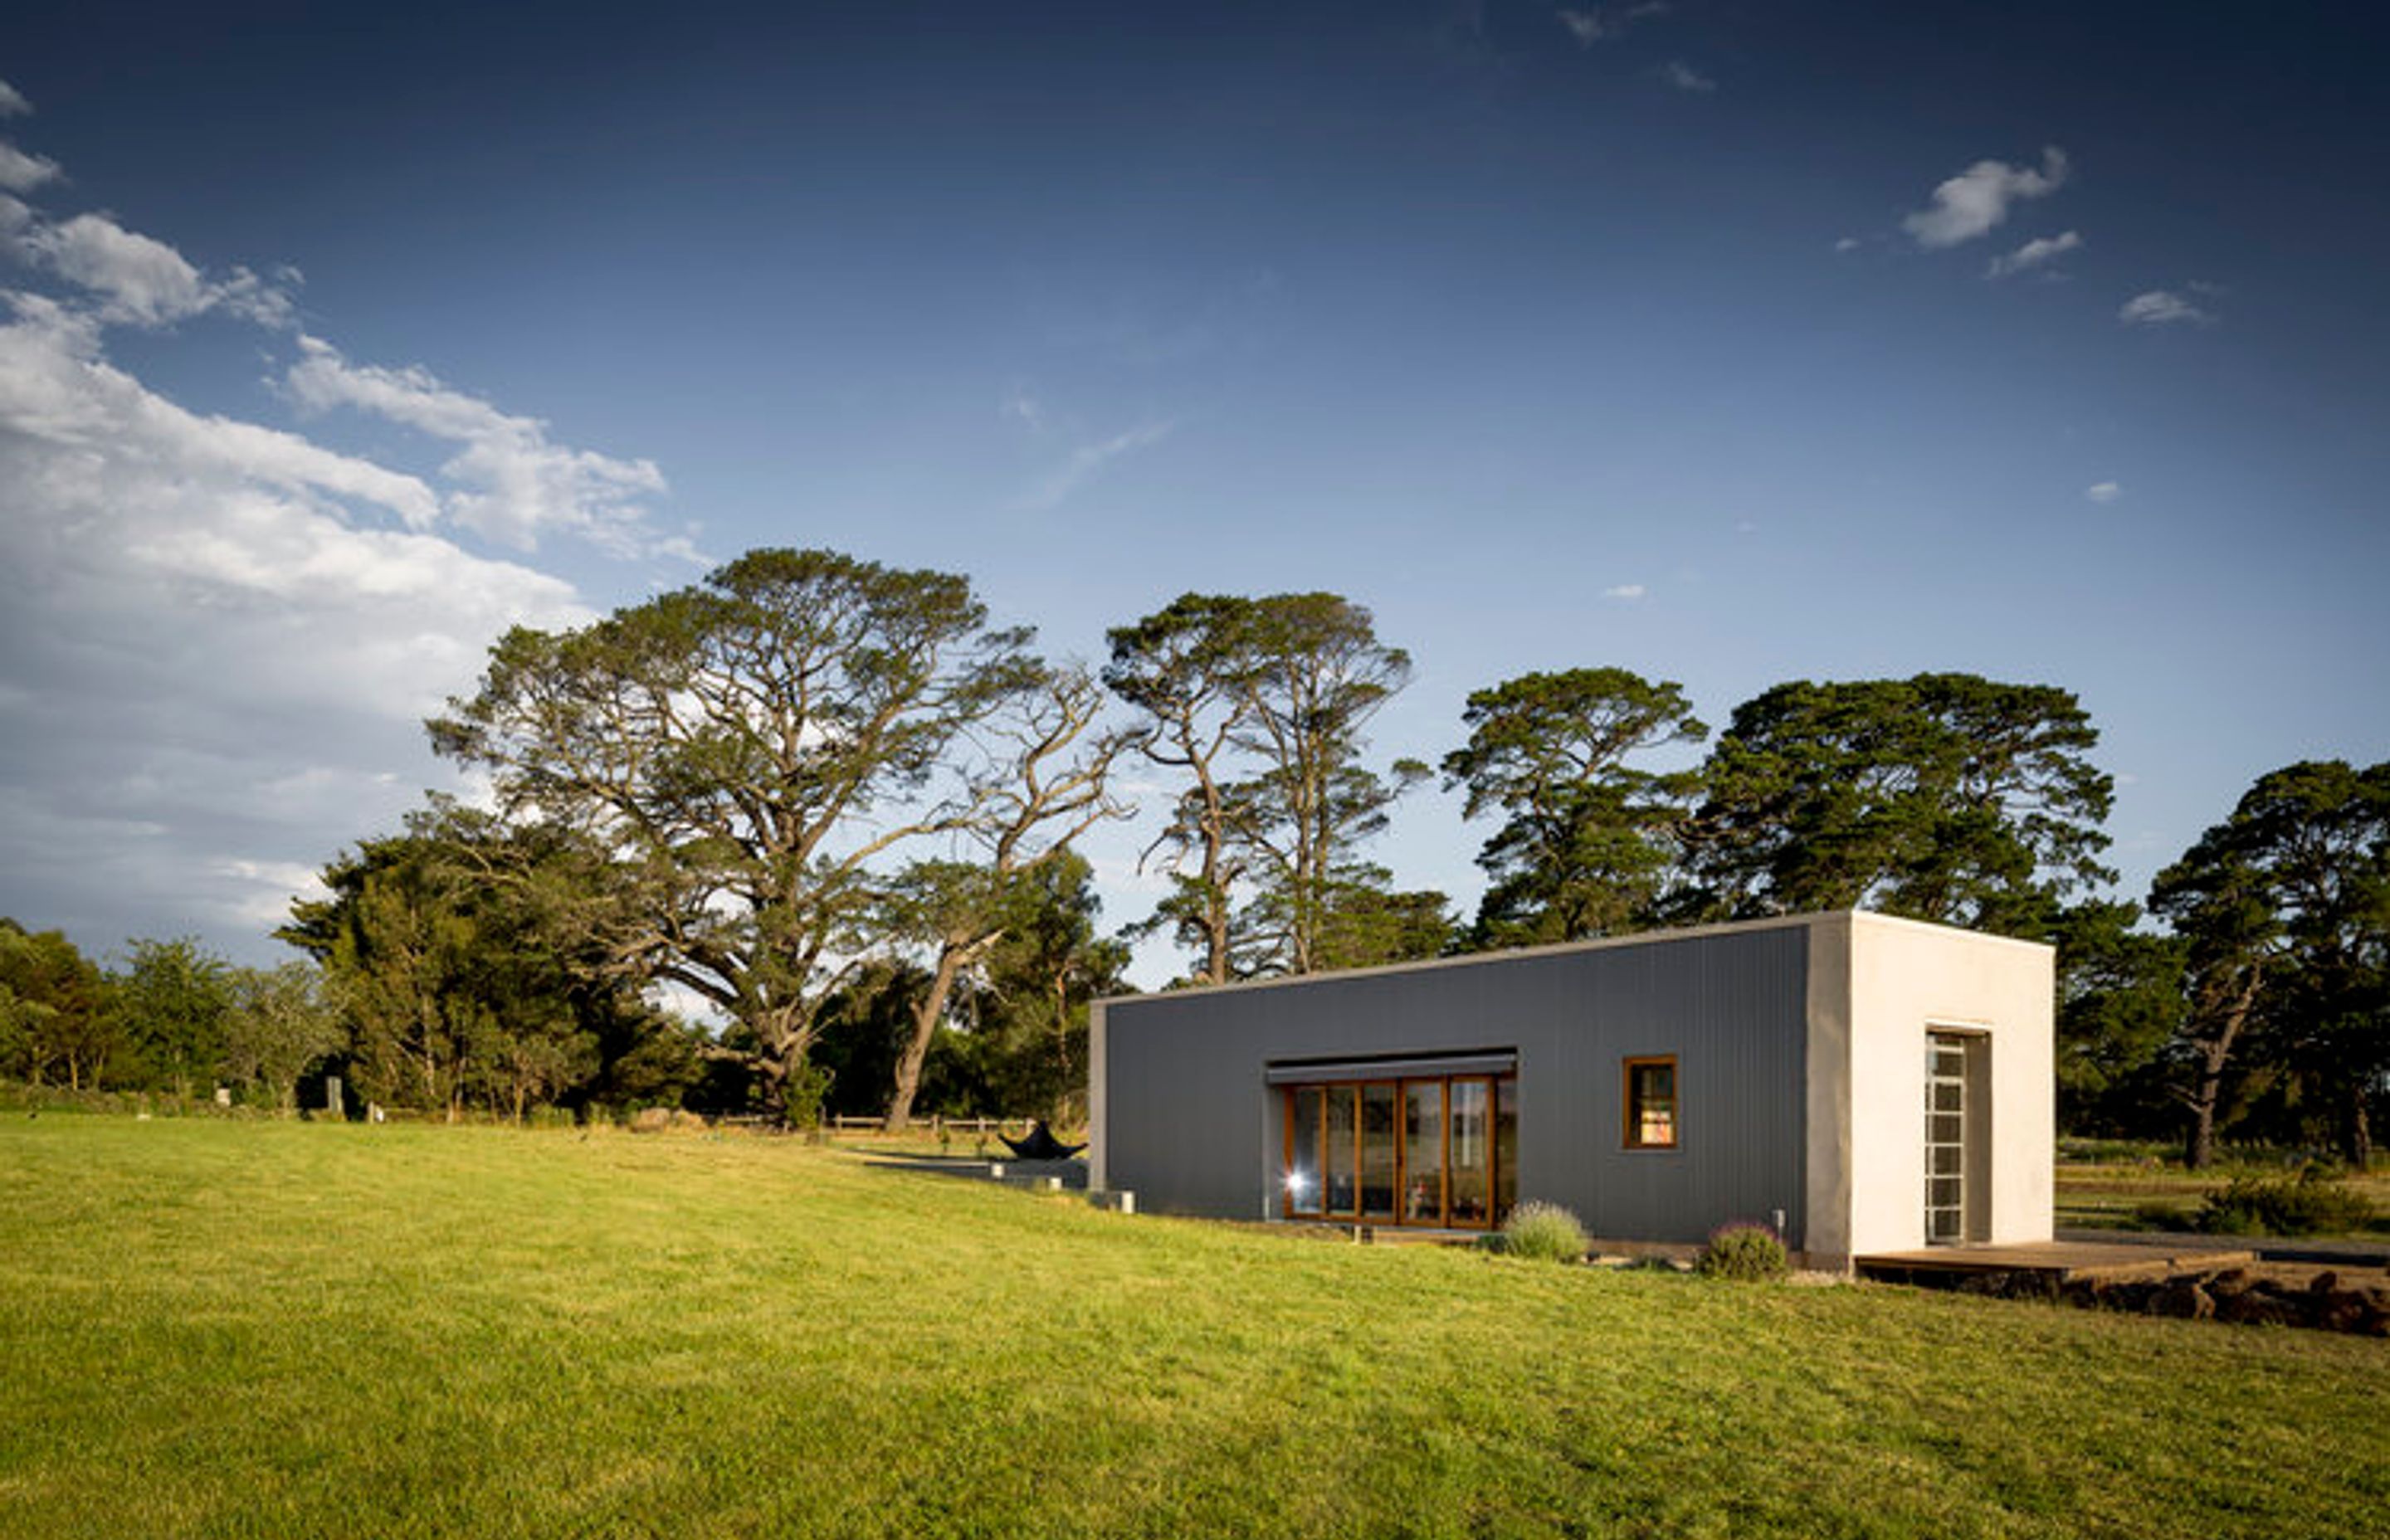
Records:
<instances>
[{"instance_id":1,"label":"large bulky white cloud at left edge, below the wispy streaks","mask_svg":"<svg viewBox=\"0 0 2390 1540\"><path fill-rule=\"evenodd\" d=\"M0 323L0 913L261 945L299 875L437 784L421 717L559 579L425 533L413 476L194 414L100 318Z\"/></svg>"}]
</instances>

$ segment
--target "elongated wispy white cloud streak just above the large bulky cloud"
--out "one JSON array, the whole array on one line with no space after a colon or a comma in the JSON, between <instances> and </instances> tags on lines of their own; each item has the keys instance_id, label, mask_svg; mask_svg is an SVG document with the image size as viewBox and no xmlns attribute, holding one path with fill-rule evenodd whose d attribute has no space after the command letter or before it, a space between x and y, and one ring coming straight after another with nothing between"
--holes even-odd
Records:
<instances>
[{"instance_id":1,"label":"elongated wispy white cloud streak just above the large bulky cloud","mask_svg":"<svg viewBox=\"0 0 2390 1540\"><path fill-rule=\"evenodd\" d=\"M516 550L538 550L550 531L583 536L614 555L660 550L643 502L667 490L652 459L550 442L540 418L509 416L423 368L349 363L318 337L301 337L299 354L284 385L301 407L351 407L464 445L440 473L464 483L447 497L447 512L466 528Z\"/></svg>"}]
</instances>

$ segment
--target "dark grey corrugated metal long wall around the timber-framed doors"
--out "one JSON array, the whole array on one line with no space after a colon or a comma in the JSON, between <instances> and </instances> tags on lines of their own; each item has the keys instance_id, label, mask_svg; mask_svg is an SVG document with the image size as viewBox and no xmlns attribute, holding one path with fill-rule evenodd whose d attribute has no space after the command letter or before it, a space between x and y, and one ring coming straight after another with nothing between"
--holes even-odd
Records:
<instances>
[{"instance_id":1,"label":"dark grey corrugated metal long wall around the timber-framed doors","mask_svg":"<svg viewBox=\"0 0 2390 1540\"><path fill-rule=\"evenodd\" d=\"M1699 1241L1785 1212L1802 1236L1809 930L1489 957L1107 1007L1107 1179L1150 1212L1262 1217L1276 1059L1518 1050L1520 1198L1611 1239ZM1620 1148L1620 1062L1678 1057L1683 1143Z\"/></svg>"}]
</instances>

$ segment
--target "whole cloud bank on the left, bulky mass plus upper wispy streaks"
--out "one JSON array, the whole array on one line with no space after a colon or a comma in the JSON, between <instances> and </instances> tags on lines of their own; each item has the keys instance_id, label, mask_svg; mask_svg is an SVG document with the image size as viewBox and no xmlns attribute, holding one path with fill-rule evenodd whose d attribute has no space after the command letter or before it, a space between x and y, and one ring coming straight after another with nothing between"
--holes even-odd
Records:
<instances>
[{"instance_id":1,"label":"whole cloud bank on the left, bulky mass plus upper wispy streaks","mask_svg":"<svg viewBox=\"0 0 2390 1540\"><path fill-rule=\"evenodd\" d=\"M641 502L664 478L421 368L351 363L294 332L292 277L208 273L112 215L0 198L0 913L103 952L198 933L268 957L323 861L449 782L421 720L490 641L593 615L471 540L667 548ZM127 328L196 344L165 328L210 313L253 328L234 349L296 349L289 404L454 457L425 476L194 411L110 352Z\"/></svg>"}]
</instances>

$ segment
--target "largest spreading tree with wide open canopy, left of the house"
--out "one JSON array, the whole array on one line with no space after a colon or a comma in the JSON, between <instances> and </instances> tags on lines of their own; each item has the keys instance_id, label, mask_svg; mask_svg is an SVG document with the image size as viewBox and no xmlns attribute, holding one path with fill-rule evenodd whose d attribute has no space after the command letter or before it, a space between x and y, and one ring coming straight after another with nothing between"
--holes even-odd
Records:
<instances>
[{"instance_id":1,"label":"largest spreading tree with wide open canopy, left of the house","mask_svg":"<svg viewBox=\"0 0 2390 1540\"><path fill-rule=\"evenodd\" d=\"M951 832L923 806L956 737L1037 679L968 579L825 550L755 550L578 631L509 631L433 746L492 777L502 815L605 849L631 902L619 964L739 1026L722 1043L813 1122L822 1007L870 954L872 863Z\"/></svg>"}]
</instances>

